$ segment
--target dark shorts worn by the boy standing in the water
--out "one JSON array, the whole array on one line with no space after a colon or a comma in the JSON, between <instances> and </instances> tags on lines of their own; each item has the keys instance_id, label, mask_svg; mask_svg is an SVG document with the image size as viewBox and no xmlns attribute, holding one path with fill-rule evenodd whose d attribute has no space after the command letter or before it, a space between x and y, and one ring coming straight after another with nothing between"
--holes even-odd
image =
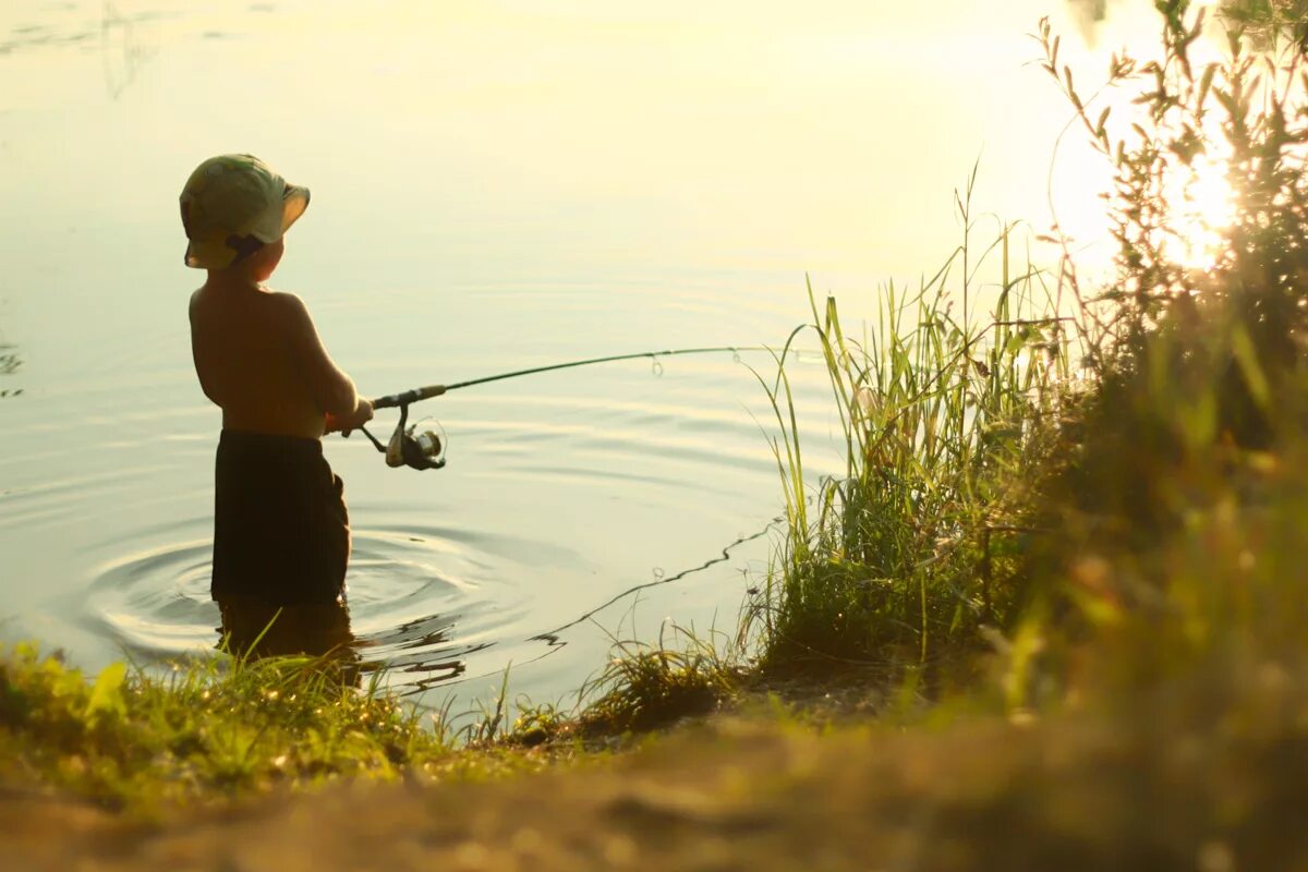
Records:
<instances>
[{"instance_id":1,"label":"dark shorts worn by the boy standing in the water","mask_svg":"<svg viewBox=\"0 0 1308 872\"><path fill-rule=\"evenodd\" d=\"M213 506L213 599L344 596L349 516L322 442L224 430Z\"/></svg>"}]
</instances>

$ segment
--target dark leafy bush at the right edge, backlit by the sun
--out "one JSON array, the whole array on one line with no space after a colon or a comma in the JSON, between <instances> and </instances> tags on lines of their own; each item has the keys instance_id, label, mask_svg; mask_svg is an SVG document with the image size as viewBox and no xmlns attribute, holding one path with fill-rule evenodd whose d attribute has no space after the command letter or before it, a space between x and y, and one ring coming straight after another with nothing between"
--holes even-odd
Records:
<instances>
[{"instance_id":1,"label":"dark leafy bush at the right edge, backlit by the sun","mask_svg":"<svg viewBox=\"0 0 1308 872\"><path fill-rule=\"evenodd\" d=\"M1033 498L1050 532L1019 570L1035 592L1025 631L1045 641L1054 686L1076 673L1156 682L1232 660L1257 671L1305 654L1304 43L1271 29L1250 48L1233 29L1226 58L1199 65L1202 10L1159 10L1162 55L1117 58L1109 75L1109 88L1141 82L1142 116L1124 136L1041 31L1046 71L1114 169L1118 243L1117 280L1083 301L1103 328L1095 388L1053 433ZM1232 214L1205 227L1219 244L1196 267L1177 258L1167 192L1201 158L1224 167Z\"/></svg>"}]
</instances>

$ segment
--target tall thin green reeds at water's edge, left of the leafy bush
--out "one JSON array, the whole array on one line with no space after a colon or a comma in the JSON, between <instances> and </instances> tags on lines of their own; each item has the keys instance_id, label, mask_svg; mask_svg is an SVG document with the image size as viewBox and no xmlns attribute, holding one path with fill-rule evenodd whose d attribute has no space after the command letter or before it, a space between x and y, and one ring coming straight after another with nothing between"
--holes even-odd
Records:
<instances>
[{"instance_id":1,"label":"tall thin green reeds at water's edge, left of the leafy bush","mask_svg":"<svg viewBox=\"0 0 1308 872\"><path fill-rule=\"evenodd\" d=\"M957 197L963 244L916 293L888 285L863 341L846 333L836 301L819 307L810 288L842 476L816 485L804 476L790 343L776 380L763 382L780 425L773 451L789 527L747 617L761 628L766 664L929 662L1016 605L998 579L1039 532L1024 522L1022 482L1037 424L1057 411L1056 388L1070 375L1074 337L1057 315L1057 288L1031 268L1011 272L1014 226L977 256L974 180ZM998 285L981 288L995 258ZM978 298L991 303L986 315Z\"/></svg>"}]
</instances>

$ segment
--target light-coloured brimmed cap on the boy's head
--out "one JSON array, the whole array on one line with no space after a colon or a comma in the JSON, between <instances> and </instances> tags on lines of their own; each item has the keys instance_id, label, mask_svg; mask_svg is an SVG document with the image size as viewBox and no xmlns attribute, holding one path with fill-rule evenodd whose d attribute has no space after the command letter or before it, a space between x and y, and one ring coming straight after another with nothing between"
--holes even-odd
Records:
<instances>
[{"instance_id":1,"label":"light-coloured brimmed cap on the boy's head","mask_svg":"<svg viewBox=\"0 0 1308 872\"><path fill-rule=\"evenodd\" d=\"M220 154L182 188L186 265L225 269L281 235L309 208L309 188L286 184L252 154Z\"/></svg>"}]
</instances>

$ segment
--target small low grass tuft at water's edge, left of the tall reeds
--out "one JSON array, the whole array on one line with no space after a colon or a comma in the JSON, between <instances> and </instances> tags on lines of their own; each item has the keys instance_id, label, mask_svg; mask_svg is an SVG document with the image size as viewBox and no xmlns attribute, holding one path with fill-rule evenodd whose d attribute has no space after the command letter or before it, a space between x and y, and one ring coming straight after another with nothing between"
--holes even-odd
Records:
<instances>
[{"instance_id":1,"label":"small low grass tuft at water's edge, left of the tall reeds","mask_svg":"<svg viewBox=\"0 0 1308 872\"><path fill-rule=\"evenodd\" d=\"M713 635L672 628L672 638L676 647L668 646L663 630L653 645L613 639L613 656L578 694L583 702L591 699L577 719L582 733L664 727L712 711L739 686L742 671Z\"/></svg>"}]
</instances>

